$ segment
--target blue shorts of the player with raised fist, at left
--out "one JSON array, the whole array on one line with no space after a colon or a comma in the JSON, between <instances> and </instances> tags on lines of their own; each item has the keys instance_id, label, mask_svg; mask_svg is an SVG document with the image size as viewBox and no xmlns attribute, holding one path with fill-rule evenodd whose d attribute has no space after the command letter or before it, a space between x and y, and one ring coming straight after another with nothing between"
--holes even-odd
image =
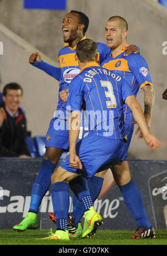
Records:
<instances>
[{"instance_id":1,"label":"blue shorts of the player with raised fist, at left","mask_svg":"<svg viewBox=\"0 0 167 256\"><path fill-rule=\"evenodd\" d=\"M80 127L78 141L80 141L87 135L87 129L88 128ZM50 127L48 128L46 134L45 147L68 149L68 132L68 120L52 118L50 122Z\"/></svg>"}]
</instances>

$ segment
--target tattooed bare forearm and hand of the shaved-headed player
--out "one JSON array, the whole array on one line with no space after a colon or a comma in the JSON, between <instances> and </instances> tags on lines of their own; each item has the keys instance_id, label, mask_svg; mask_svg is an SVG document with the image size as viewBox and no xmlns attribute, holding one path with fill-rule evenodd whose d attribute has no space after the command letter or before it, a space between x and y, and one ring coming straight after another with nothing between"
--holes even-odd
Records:
<instances>
[{"instance_id":1,"label":"tattooed bare forearm and hand of the shaved-headed player","mask_svg":"<svg viewBox=\"0 0 167 256\"><path fill-rule=\"evenodd\" d=\"M146 84L142 88L142 90L144 91L144 115L145 115L148 127L150 128L151 116L152 116L153 105L155 100L155 91L154 91L154 87L149 84ZM135 135L137 135L138 133L139 133L138 138L139 139L143 138L143 134L141 133L139 127L137 128Z\"/></svg>"}]
</instances>

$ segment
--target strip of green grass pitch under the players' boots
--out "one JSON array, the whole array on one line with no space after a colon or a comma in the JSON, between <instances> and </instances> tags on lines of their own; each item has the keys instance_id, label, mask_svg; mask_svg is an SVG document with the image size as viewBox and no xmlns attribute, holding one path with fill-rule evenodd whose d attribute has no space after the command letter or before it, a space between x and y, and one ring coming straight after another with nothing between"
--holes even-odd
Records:
<instances>
[{"instance_id":1,"label":"strip of green grass pitch under the players' boots","mask_svg":"<svg viewBox=\"0 0 167 256\"><path fill-rule=\"evenodd\" d=\"M167 229L155 230L155 239L129 239L134 231L98 230L95 236L70 241L36 240L47 236L49 230L0 230L0 245L167 245ZM53 230L55 232L55 230Z\"/></svg>"}]
</instances>

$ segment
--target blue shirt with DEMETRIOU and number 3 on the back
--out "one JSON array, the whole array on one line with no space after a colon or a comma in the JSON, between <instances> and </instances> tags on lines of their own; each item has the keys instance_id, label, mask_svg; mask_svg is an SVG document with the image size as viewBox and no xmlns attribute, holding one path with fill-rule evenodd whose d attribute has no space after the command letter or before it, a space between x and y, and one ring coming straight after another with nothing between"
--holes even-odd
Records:
<instances>
[{"instance_id":1,"label":"blue shirt with DEMETRIOU and number 3 on the back","mask_svg":"<svg viewBox=\"0 0 167 256\"><path fill-rule=\"evenodd\" d=\"M89 132L122 139L126 135L122 108L130 95L133 93L129 84L119 74L94 62L86 65L71 81L67 107L68 110L81 112L85 102Z\"/></svg>"}]
</instances>

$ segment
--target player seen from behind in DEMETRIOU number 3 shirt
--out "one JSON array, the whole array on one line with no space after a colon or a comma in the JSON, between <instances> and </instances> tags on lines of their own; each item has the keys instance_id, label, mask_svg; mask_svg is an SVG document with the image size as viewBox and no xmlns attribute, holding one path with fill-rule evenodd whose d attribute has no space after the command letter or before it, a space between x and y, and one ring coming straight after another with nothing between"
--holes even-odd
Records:
<instances>
[{"instance_id":1,"label":"player seen from behind in DEMETRIOU number 3 shirt","mask_svg":"<svg viewBox=\"0 0 167 256\"><path fill-rule=\"evenodd\" d=\"M87 54L89 52L89 54ZM70 106L69 153L63 159L57 171L52 175L52 204L57 218L56 233L47 238L70 240L67 219L70 204L68 183L78 200L85 208L85 223L82 238L89 236L95 224L100 224L102 217L93 207L90 191L82 176L92 178L112 165L121 165L126 152L126 129L124 125L124 102L130 107L146 144L158 149L161 142L148 128L143 111L137 103L129 84L116 73L101 68L96 62L97 45L90 39L77 44L76 60L80 74L70 84L67 105ZM80 129L82 104L90 114L89 135L77 143ZM153 234L150 231L150 236Z\"/></svg>"}]
</instances>

